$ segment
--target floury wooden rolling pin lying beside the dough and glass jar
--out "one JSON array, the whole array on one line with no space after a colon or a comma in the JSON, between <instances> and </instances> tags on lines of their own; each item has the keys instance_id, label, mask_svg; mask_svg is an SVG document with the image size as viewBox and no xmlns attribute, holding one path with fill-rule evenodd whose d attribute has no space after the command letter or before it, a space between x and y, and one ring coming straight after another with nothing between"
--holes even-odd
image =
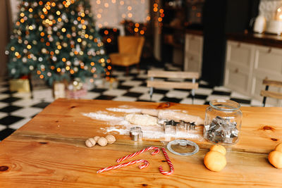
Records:
<instances>
[{"instance_id":1,"label":"floury wooden rolling pin lying beside the dough and glass jar","mask_svg":"<svg viewBox=\"0 0 282 188\"><path fill-rule=\"evenodd\" d=\"M197 115L188 115L187 113L181 113L170 110L152 110L152 109L143 109L141 111L143 114L148 114L155 116L159 119L166 120L175 120L180 121L183 120L189 123L195 123L195 125L204 125L204 120Z\"/></svg>"}]
</instances>

